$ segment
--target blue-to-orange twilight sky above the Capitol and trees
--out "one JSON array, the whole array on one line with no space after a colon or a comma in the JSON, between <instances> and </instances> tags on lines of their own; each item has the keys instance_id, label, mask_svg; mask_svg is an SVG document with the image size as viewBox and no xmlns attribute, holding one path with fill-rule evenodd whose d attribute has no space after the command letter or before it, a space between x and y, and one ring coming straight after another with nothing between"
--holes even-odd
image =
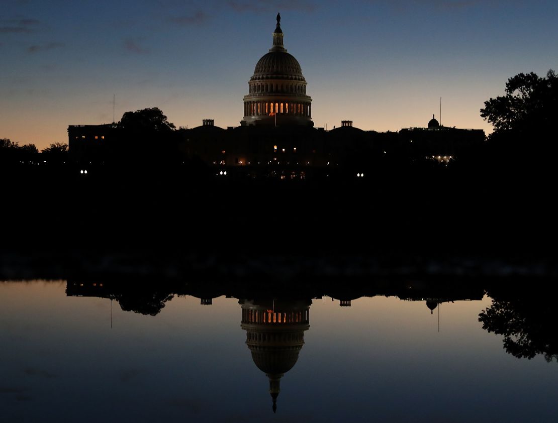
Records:
<instances>
[{"instance_id":1,"label":"blue-to-orange twilight sky above the Capitol and trees","mask_svg":"<svg viewBox=\"0 0 558 423\"><path fill-rule=\"evenodd\" d=\"M519 72L558 70L555 0L1 0L0 138L43 149L68 125L158 107L177 127L238 126L272 46L285 47L316 127L492 131L479 110Z\"/></svg>"}]
</instances>

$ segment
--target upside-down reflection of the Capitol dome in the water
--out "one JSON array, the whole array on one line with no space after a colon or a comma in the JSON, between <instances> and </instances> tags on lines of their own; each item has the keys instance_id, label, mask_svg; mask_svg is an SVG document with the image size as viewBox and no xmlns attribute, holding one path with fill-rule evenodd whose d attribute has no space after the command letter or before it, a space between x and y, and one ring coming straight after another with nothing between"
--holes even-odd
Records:
<instances>
[{"instance_id":1,"label":"upside-down reflection of the Capitol dome in the water","mask_svg":"<svg viewBox=\"0 0 558 423\"><path fill-rule=\"evenodd\" d=\"M246 344L256 366L270 379L275 412L279 381L295 365L304 345L304 331L310 327L311 301L239 300L239 304Z\"/></svg>"}]
</instances>

